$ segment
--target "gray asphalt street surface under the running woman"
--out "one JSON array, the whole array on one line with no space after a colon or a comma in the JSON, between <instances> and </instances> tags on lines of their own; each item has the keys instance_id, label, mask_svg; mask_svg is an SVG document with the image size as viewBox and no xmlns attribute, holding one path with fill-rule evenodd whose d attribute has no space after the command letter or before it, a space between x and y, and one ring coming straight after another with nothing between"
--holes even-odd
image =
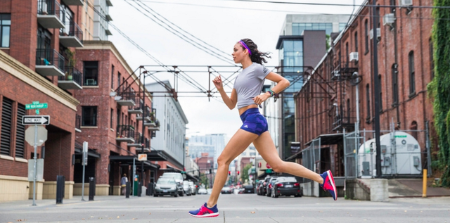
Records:
<instances>
[{"instance_id":1,"label":"gray asphalt street surface under the running woman","mask_svg":"<svg viewBox=\"0 0 450 223\"><path fill-rule=\"evenodd\" d=\"M87 200L87 197L84 197ZM450 197L393 198L385 203L338 198L269 198L224 194L219 217L195 218L207 195L184 197L96 196L81 201L21 200L0 203L0 222L450 222Z\"/></svg>"}]
</instances>

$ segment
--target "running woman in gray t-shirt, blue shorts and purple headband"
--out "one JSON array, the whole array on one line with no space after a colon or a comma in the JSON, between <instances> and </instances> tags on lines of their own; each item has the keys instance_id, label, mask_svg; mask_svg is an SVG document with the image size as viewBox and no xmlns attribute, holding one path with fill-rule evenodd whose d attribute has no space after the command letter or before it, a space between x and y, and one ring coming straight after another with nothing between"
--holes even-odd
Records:
<instances>
[{"instance_id":1,"label":"running woman in gray t-shirt, blue shorts and purple headband","mask_svg":"<svg viewBox=\"0 0 450 223\"><path fill-rule=\"evenodd\" d=\"M217 199L225 184L229 165L251 143L253 143L262 158L269 163L275 172L285 172L314 180L325 191L328 191L334 200L337 199L335 181L330 170L323 172L323 174L317 174L298 163L285 162L278 156L274 141L272 141L267 131L266 118L259 113L258 106L266 101L267 98L289 87L289 81L262 65L262 63L267 63L264 57L269 58L268 54L258 51L257 44L252 42L251 39L242 39L234 45L233 53L231 54L234 63L240 63L243 67L242 72L236 77L231 96L228 96L224 91L220 76L215 77L212 81L230 110L235 108L237 104L243 125L231 137L224 151L217 158L217 173L210 198L200 209L189 212L193 217L219 216ZM264 79L276 82L276 86L266 93L260 94Z\"/></svg>"}]
</instances>

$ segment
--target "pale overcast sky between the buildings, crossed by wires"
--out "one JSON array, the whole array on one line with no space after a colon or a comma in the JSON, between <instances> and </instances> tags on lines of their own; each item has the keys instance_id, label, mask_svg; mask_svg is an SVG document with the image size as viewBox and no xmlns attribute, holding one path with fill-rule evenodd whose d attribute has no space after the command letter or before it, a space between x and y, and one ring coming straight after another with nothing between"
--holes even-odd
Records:
<instances>
[{"instance_id":1,"label":"pale overcast sky between the buildings, crossed by wires","mask_svg":"<svg viewBox=\"0 0 450 223\"><path fill-rule=\"evenodd\" d=\"M140 8L134 4L134 1L115 0L112 2L114 6L110 7L109 14L116 27L152 56L158 58L164 65L202 65L203 68L198 69L205 70L205 72L188 74L191 74L193 79L206 89L209 84L206 66L230 65L165 30L150 20L150 18L154 18L150 13L146 12L150 18L139 13L136 8L129 5ZM353 4L355 2L361 4L363 0L304 0L300 2L332 4ZM230 60L234 44L240 39L250 38L258 45L259 50L272 53L272 58L266 64L268 66L278 65L278 51L275 46L287 14L349 14L353 10L353 7L349 6L305 6L226 0L141 0L141 4L146 4L153 11L198 39L228 53ZM147 8L147 10L149 9ZM168 22L166 21L166 23ZM139 68L139 65L157 65L155 61L139 51L112 27L110 30L113 32L113 36L110 36L109 40L115 44L132 70ZM208 48L212 49L210 46ZM214 51L216 50L214 49ZM223 53L221 54L223 55ZM174 86L173 75L158 73L155 76L160 80L168 79ZM146 83L150 82L154 82L154 80L146 78ZM181 80L178 90L198 91ZM226 88L226 91L231 91L231 89ZM186 126L188 127L186 136L224 133L227 137L231 137L242 124L237 108L229 110L220 98L211 98L209 101L207 97L182 97L186 95L192 94L179 94L179 102L189 122ZM219 96L219 94L216 95Z\"/></svg>"}]
</instances>

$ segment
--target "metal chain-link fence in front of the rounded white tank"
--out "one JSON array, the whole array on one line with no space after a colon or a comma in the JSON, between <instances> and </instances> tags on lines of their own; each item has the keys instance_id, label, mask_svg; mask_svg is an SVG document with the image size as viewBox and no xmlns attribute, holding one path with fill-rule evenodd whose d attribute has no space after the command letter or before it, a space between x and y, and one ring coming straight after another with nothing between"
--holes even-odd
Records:
<instances>
[{"instance_id":1,"label":"metal chain-link fence in front of the rounded white tank","mask_svg":"<svg viewBox=\"0 0 450 223\"><path fill-rule=\"evenodd\" d=\"M375 131L344 132L343 140L345 177L375 177ZM423 169L432 174L428 123L425 130L381 130L380 151L382 177L419 176Z\"/></svg>"}]
</instances>

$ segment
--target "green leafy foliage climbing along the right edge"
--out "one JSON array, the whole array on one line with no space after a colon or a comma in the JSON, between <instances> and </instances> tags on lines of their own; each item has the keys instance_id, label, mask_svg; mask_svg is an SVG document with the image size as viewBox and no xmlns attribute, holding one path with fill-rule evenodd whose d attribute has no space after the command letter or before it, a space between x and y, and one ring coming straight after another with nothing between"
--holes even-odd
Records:
<instances>
[{"instance_id":1,"label":"green leafy foliage climbing along the right edge","mask_svg":"<svg viewBox=\"0 0 450 223\"><path fill-rule=\"evenodd\" d=\"M435 0L434 6L450 6L450 0ZM428 95L432 99L435 129L439 152L432 165L442 170L442 186L450 187L450 18L448 8L433 8L435 18L432 27L435 77L428 84Z\"/></svg>"}]
</instances>

